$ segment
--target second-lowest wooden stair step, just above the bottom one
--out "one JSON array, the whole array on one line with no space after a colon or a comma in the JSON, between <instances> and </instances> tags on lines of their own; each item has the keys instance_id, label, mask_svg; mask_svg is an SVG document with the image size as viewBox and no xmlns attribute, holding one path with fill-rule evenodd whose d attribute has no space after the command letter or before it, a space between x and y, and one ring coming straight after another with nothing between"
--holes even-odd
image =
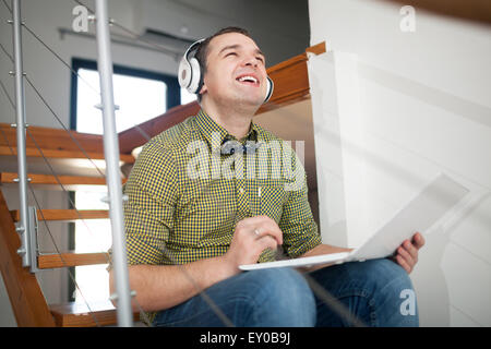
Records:
<instances>
[{"instance_id":1,"label":"second-lowest wooden stair step, just above the bottom one","mask_svg":"<svg viewBox=\"0 0 491 349\"><path fill-rule=\"evenodd\" d=\"M109 254L106 252L95 253L75 253L63 252L46 253L37 256L37 267L39 269L55 269L72 266L95 265L95 264L108 264Z\"/></svg>"}]
</instances>

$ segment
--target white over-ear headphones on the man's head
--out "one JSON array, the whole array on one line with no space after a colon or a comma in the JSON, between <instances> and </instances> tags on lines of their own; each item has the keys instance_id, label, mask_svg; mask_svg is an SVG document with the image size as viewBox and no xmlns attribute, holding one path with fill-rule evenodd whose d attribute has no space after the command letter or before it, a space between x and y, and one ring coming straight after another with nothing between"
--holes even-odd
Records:
<instances>
[{"instance_id":1,"label":"white over-ear headphones on the man's head","mask_svg":"<svg viewBox=\"0 0 491 349\"><path fill-rule=\"evenodd\" d=\"M195 57L190 58L190 53L192 51L195 51L204 40L205 39L200 39L191 44L191 46L185 50L184 56L182 56L181 62L179 63L179 85L182 88L188 89L188 92L191 94L200 93L200 89L203 86L203 76L201 74L200 62ZM274 89L274 83L273 80L270 79L270 76L266 76L266 82L267 88L266 95L264 97L264 103L270 100Z\"/></svg>"}]
</instances>

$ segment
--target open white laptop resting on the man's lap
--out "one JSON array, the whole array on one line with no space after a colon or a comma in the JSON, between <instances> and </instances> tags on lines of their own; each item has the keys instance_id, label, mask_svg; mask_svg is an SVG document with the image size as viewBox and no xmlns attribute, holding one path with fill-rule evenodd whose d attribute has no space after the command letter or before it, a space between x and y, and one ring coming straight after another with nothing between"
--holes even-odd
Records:
<instances>
[{"instance_id":1,"label":"open white laptop resting on the man's lap","mask_svg":"<svg viewBox=\"0 0 491 349\"><path fill-rule=\"evenodd\" d=\"M362 245L351 252L331 253L310 257L244 264L242 270L279 267L308 267L316 264L363 262L394 254L397 248L419 231L426 233L440 218L469 192L448 176L440 173L385 222Z\"/></svg>"}]
</instances>

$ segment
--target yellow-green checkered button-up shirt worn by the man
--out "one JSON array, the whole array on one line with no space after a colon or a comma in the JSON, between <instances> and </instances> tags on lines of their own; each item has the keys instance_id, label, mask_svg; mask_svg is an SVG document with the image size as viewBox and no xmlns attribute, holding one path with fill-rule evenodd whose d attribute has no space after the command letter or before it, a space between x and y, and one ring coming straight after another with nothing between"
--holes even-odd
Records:
<instances>
[{"instance_id":1,"label":"yellow-green checkered button-up shirt worn by the man","mask_svg":"<svg viewBox=\"0 0 491 349\"><path fill-rule=\"evenodd\" d=\"M227 140L261 146L252 154L237 148L224 155L220 145ZM290 257L321 243L298 156L253 122L248 135L236 140L200 110L145 144L124 193L130 265L184 264L223 255L237 222L259 215L278 224ZM260 262L274 258L266 250Z\"/></svg>"}]
</instances>

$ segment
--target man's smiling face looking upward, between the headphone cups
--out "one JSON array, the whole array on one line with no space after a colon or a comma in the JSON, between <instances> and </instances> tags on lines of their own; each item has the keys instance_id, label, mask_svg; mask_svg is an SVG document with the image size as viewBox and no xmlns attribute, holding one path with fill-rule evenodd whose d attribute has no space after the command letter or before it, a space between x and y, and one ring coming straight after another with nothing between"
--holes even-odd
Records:
<instances>
[{"instance_id":1,"label":"man's smiling face looking upward, between the headphone cups","mask_svg":"<svg viewBox=\"0 0 491 349\"><path fill-rule=\"evenodd\" d=\"M266 88L264 55L250 37L227 33L211 40L202 93L219 104L261 106Z\"/></svg>"}]
</instances>

